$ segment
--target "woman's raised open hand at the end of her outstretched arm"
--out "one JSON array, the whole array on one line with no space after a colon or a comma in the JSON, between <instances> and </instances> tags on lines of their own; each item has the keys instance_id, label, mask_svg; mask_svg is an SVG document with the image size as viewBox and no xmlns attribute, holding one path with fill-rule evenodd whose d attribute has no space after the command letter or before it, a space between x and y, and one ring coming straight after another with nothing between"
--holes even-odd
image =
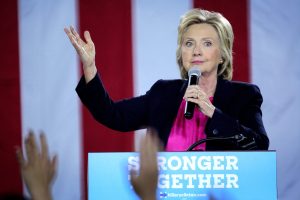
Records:
<instances>
[{"instance_id":1,"label":"woman's raised open hand at the end of her outstretched arm","mask_svg":"<svg viewBox=\"0 0 300 200\"><path fill-rule=\"evenodd\" d=\"M83 41L75 29L71 26L70 29L64 28L65 33L69 37L73 47L77 51L80 60L83 64L83 72L88 83L94 78L97 73L97 68L95 64L96 50L95 45L92 41L91 35L88 31L84 31Z\"/></svg>"}]
</instances>

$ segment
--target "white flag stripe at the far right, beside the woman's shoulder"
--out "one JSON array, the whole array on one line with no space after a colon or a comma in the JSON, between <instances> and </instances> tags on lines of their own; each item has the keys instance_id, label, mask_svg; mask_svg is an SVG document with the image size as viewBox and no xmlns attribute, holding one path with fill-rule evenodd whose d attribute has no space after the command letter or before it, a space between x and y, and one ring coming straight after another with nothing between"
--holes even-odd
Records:
<instances>
[{"instance_id":1,"label":"white flag stripe at the far right, beside the woman's shoulder","mask_svg":"<svg viewBox=\"0 0 300 200\"><path fill-rule=\"evenodd\" d=\"M278 197L299 199L300 1L252 0L250 5L252 79L264 96L270 149L277 150Z\"/></svg>"}]
</instances>

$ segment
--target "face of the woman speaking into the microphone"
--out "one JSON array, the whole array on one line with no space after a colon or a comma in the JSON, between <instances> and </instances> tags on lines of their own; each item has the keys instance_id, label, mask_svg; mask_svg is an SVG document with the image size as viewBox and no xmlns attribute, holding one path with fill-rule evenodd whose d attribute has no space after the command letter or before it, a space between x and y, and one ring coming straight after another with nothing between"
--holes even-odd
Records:
<instances>
[{"instance_id":1,"label":"face of the woman speaking into the microphone","mask_svg":"<svg viewBox=\"0 0 300 200\"><path fill-rule=\"evenodd\" d=\"M181 56L186 71L198 66L203 76L217 77L218 65L222 60L216 30L209 24L194 24L188 27L183 34Z\"/></svg>"}]
</instances>

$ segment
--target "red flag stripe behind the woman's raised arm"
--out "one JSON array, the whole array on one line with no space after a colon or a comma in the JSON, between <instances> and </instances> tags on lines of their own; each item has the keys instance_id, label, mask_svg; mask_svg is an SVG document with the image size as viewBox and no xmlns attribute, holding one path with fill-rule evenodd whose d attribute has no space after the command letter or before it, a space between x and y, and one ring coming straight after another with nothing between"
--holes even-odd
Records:
<instances>
[{"instance_id":1,"label":"red flag stripe behind the woman's raised arm","mask_svg":"<svg viewBox=\"0 0 300 200\"><path fill-rule=\"evenodd\" d=\"M79 1L81 35L89 30L105 88L117 100L133 96L131 1ZM131 151L133 134L112 131L83 108L84 170L88 152ZM85 174L85 185L87 176Z\"/></svg>"}]
</instances>

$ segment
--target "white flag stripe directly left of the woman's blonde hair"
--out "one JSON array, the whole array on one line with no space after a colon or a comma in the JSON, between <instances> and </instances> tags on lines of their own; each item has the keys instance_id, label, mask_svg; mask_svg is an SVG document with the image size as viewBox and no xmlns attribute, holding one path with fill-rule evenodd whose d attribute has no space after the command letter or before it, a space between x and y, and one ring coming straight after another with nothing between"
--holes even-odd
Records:
<instances>
[{"instance_id":1,"label":"white flag stripe directly left of the woman's blonde hair","mask_svg":"<svg viewBox=\"0 0 300 200\"><path fill-rule=\"evenodd\" d=\"M180 16L193 7L192 3L191 0L132 1L135 96L145 94L159 79L180 77L176 64L177 27ZM140 134L136 134L136 149L139 138Z\"/></svg>"}]
</instances>

